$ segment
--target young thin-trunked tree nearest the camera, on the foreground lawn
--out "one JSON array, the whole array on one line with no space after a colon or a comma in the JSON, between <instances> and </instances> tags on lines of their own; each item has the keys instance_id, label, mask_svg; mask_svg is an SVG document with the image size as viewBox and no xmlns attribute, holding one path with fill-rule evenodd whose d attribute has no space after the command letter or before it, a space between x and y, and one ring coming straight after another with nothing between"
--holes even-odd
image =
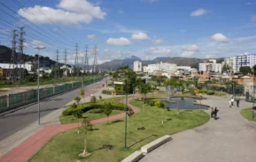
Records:
<instances>
[{"instance_id":1,"label":"young thin-trunked tree nearest the camera, on the foreground lawn","mask_svg":"<svg viewBox=\"0 0 256 162\"><path fill-rule=\"evenodd\" d=\"M82 153L79 154L80 157L88 157L90 153L87 151L87 133L92 130L92 124L89 119L83 118L83 122L81 122L81 129L84 132L84 149Z\"/></svg>"}]
</instances>

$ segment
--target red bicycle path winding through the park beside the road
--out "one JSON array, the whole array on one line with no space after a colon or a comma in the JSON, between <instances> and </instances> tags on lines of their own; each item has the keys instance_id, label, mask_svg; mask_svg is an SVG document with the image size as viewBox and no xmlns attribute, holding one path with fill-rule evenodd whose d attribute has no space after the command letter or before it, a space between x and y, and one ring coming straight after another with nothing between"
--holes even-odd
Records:
<instances>
[{"instance_id":1,"label":"red bicycle path winding through the park beside the road","mask_svg":"<svg viewBox=\"0 0 256 162\"><path fill-rule=\"evenodd\" d=\"M91 94L94 94L97 90L87 92L85 97L89 97ZM138 113L139 108L129 104L129 101L133 98L128 98L128 107L131 107L135 113ZM108 119L101 118L91 121L92 124L102 123L108 121L115 121L121 118L125 118L125 112L121 114L115 114L110 116ZM0 158L1 162L26 162L31 158L37 151L39 151L44 144L47 144L50 139L57 135L60 132L66 131L68 129L77 128L77 123L69 124L57 124L57 125L48 125L43 129L40 129L35 135L30 136L23 143L19 144L12 151L6 153L3 157Z\"/></svg>"}]
</instances>

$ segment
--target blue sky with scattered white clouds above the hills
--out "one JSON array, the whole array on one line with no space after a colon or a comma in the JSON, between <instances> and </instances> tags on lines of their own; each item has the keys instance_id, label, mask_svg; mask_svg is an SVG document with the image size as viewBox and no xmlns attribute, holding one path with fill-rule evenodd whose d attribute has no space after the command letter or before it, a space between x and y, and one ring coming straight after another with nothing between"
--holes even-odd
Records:
<instances>
[{"instance_id":1,"label":"blue sky with scattered white clouds above the hills","mask_svg":"<svg viewBox=\"0 0 256 162\"><path fill-rule=\"evenodd\" d=\"M94 45L99 63L130 55L150 60L159 56L211 58L256 53L255 0L2 2L2 44L10 47L11 31L25 26L27 54L35 54L32 47L42 45L46 47L42 55L55 59L58 49L63 60L66 48L69 63L74 63L75 43L80 62L85 46L89 46L90 63Z\"/></svg>"}]
</instances>

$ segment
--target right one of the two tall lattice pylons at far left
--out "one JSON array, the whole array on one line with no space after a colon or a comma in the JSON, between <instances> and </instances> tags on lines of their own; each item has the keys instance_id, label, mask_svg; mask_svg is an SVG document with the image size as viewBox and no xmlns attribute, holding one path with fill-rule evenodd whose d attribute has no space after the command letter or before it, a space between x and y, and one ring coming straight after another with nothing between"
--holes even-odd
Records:
<instances>
[{"instance_id":1,"label":"right one of the two tall lattice pylons at far left","mask_svg":"<svg viewBox=\"0 0 256 162\"><path fill-rule=\"evenodd\" d=\"M24 78L24 72L21 68L25 69L25 63L23 58L23 48L24 48L24 38L23 35L25 32L23 31L24 27L19 28L19 54L17 58L17 77L19 77L19 81Z\"/></svg>"}]
</instances>

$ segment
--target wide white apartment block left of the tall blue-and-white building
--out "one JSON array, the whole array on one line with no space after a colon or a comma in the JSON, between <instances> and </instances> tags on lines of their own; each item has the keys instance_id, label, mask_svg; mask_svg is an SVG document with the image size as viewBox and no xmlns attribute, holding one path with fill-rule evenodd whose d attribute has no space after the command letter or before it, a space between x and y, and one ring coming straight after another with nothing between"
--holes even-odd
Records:
<instances>
[{"instance_id":1,"label":"wide white apartment block left of the tall blue-and-white building","mask_svg":"<svg viewBox=\"0 0 256 162\"><path fill-rule=\"evenodd\" d=\"M199 63L199 71L204 71L204 72L219 72L221 73L221 63L216 63L216 60L209 60L204 63Z\"/></svg>"}]
</instances>

